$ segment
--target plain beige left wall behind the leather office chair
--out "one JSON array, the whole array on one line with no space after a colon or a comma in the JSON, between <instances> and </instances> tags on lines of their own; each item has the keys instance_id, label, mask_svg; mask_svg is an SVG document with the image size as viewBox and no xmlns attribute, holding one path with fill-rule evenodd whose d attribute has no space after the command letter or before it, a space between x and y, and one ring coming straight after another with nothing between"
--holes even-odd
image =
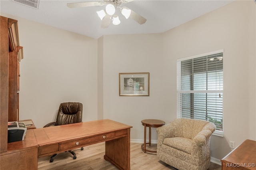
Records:
<instances>
[{"instance_id":1,"label":"plain beige left wall behind the leather office chair","mask_svg":"<svg viewBox=\"0 0 256 170\"><path fill-rule=\"evenodd\" d=\"M18 18L20 45L20 120L40 128L56 120L62 102L83 103L83 121L97 115L97 40ZM90 113L90 114L86 114Z\"/></svg>"}]
</instances>

